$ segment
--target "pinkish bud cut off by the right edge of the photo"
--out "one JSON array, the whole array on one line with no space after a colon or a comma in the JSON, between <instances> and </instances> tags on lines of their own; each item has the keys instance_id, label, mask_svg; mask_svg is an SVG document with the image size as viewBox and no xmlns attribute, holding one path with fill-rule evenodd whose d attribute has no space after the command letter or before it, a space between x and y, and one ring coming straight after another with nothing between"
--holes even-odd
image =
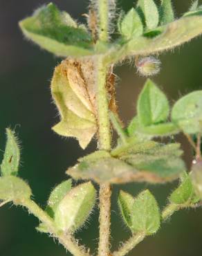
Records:
<instances>
[{"instance_id":1,"label":"pinkish bud cut off by the right edge of the photo","mask_svg":"<svg viewBox=\"0 0 202 256\"><path fill-rule=\"evenodd\" d=\"M196 195L202 199L202 160L193 161L191 179Z\"/></svg>"}]
</instances>

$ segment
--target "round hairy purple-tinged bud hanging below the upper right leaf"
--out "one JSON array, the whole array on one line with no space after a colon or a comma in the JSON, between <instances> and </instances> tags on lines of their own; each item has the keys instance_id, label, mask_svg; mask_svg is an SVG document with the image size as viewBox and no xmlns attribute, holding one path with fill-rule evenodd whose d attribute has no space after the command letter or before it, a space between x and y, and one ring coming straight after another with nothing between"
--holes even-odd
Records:
<instances>
[{"instance_id":1,"label":"round hairy purple-tinged bud hanging below the upper right leaf","mask_svg":"<svg viewBox=\"0 0 202 256\"><path fill-rule=\"evenodd\" d=\"M138 73L143 76L156 75L160 71L160 60L153 56L141 57L136 61Z\"/></svg>"}]
</instances>

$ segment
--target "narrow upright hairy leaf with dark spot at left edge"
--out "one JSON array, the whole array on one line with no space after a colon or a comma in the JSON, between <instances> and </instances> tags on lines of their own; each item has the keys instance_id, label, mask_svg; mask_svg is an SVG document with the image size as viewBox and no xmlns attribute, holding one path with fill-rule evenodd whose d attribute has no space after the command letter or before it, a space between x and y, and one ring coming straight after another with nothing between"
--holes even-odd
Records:
<instances>
[{"instance_id":1,"label":"narrow upright hairy leaf with dark spot at left edge","mask_svg":"<svg viewBox=\"0 0 202 256\"><path fill-rule=\"evenodd\" d=\"M6 149L3 155L3 161L1 163L1 175L16 176L18 172L19 160L20 160L19 145L18 145L17 137L15 136L14 131L7 128L6 135L7 135L7 142L6 142Z\"/></svg>"}]
</instances>

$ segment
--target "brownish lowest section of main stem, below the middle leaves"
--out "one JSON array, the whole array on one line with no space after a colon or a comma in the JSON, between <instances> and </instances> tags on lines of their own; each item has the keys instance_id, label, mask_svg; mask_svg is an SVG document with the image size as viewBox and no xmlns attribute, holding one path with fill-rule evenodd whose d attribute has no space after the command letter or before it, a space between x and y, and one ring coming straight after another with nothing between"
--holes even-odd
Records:
<instances>
[{"instance_id":1,"label":"brownish lowest section of main stem, below the middle leaves","mask_svg":"<svg viewBox=\"0 0 202 256\"><path fill-rule=\"evenodd\" d=\"M100 184L100 241L99 256L109 256L110 247L110 215L111 215L111 187L109 183Z\"/></svg>"}]
</instances>

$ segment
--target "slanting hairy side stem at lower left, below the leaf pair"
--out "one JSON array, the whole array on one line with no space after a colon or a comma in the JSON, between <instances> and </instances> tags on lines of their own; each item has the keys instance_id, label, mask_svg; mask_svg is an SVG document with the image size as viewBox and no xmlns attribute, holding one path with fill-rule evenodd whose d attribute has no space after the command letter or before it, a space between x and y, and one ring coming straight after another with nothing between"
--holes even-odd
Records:
<instances>
[{"instance_id":1,"label":"slanting hairy side stem at lower left, below the leaf pair","mask_svg":"<svg viewBox=\"0 0 202 256\"><path fill-rule=\"evenodd\" d=\"M42 221L42 223L45 223L48 231L53 234L53 237L57 237L59 243L62 244L70 253L76 256L90 256L82 246L77 244L77 241L71 234L65 234L58 230L57 226L55 226L54 220L44 212L37 203L28 199L26 201L19 202L19 204L28 208L29 212L34 214L35 217Z\"/></svg>"}]
</instances>

